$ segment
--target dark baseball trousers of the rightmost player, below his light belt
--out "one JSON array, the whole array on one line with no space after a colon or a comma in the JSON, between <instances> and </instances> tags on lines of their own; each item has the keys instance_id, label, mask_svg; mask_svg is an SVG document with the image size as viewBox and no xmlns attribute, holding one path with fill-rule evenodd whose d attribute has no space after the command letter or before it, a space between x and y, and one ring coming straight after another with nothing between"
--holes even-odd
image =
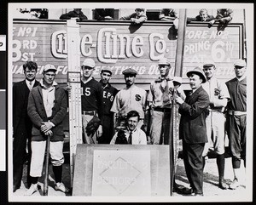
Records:
<instances>
[{"instance_id":1,"label":"dark baseball trousers of the rightmost player, below his light belt","mask_svg":"<svg viewBox=\"0 0 256 205\"><path fill-rule=\"evenodd\" d=\"M241 159L246 161L247 115L229 115L226 123L233 168L240 168Z\"/></svg>"}]
</instances>

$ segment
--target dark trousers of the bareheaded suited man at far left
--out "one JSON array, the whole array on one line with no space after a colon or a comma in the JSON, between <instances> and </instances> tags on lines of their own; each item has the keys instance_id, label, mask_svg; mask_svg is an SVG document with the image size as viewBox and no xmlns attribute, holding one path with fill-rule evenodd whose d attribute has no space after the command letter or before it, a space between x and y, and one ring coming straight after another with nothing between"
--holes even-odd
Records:
<instances>
[{"instance_id":1,"label":"dark trousers of the bareheaded suited man at far left","mask_svg":"<svg viewBox=\"0 0 256 205\"><path fill-rule=\"evenodd\" d=\"M30 162L31 162L31 134L26 134L21 132L15 134L14 138L14 150L13 150L13 177L14 177L14 186L20 188L22 173L23 173L23 164L26 160L26 139L28 146L28 162L27 162L27 175L26 182L28 187L31 185L31 176L30 176Z\"/></svg>"}]
</instances>

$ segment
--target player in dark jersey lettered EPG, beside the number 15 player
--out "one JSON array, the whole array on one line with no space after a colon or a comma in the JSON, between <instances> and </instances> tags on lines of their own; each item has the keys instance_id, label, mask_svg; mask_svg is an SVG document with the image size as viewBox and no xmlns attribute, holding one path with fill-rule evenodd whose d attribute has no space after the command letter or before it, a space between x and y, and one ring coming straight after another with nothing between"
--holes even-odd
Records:
<instances>
[{"instance_id":1,"label":"player in dark jersey lettered EPG, beside the number 15 player","mask_svg":"<svg viewBox=\"0 0 256 205\"><path fill-rule=\"evenodd\" d=\"M102 117L102 137L99 138L99 144L109 144L113 137L113 112L110 111L113 105L113 99L117 94L117 88L114 88L109 80L112 77L112 71L109 68L103 68L101 71L101 85L103 89L103 117Z\"/></svg>"}]
</instances>

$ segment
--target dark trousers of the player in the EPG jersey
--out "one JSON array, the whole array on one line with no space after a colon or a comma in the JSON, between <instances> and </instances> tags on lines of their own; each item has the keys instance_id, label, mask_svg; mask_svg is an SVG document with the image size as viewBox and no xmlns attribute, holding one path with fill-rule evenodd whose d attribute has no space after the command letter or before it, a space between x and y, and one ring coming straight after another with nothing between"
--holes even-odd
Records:
<instances>
[{"instance_id":1,"label":"dark trousers of the player in the EPG jersey","mask_svg":"<svg viewBox=\"0 0 256 205\"><path fill-rule=\"evenodd\" d=\"M102 137L98 139L99 144L109 144L113 138L113 115L102 117Z\"/></svg>"}]
</instances>

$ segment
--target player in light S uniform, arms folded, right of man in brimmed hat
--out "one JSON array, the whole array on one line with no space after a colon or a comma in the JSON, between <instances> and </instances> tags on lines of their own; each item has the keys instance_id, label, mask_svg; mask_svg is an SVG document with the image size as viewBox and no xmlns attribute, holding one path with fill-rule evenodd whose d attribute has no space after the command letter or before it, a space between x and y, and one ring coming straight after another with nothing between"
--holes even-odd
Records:
<instances>
[{"instance_id":1,"label":"player in light S uniform, arms folded, right of man in brimmed hat","mask_svg":"<svg viewBox=\"0 0 256 205\"><path fill-rule=\"evenodd\" d=\"M215 77L216 66L212 61L207 61L203 65L203 71L207 77L207 82L202 84L202 88L207 91L210 99L209 115L207 116L207 137L203 157L207 156L209 150L217 154L216 162L218 167L218 187L227 189L228 185L224 180L225 164L225 121L224 110L230 100L230 93L225 83L220 82Z\"/></svg>"}]
</instances>

